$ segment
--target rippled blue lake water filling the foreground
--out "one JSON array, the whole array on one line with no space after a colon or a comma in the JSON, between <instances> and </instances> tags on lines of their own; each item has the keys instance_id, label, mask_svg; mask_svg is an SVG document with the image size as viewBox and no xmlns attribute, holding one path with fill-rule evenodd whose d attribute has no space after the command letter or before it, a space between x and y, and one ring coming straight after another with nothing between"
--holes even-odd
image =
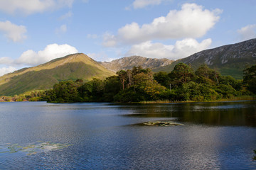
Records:
<instances>
[{"instance_id":1,"label":"rippled blue lake water filling the foreground","mask_svg":"<svg viewBox=\"0 0 256 170\"><path fill-rule=\"evenodd\" d=\"M256 101L0 103L0 169L256 169L254 149Z\"/></svg>"}]
</instances>

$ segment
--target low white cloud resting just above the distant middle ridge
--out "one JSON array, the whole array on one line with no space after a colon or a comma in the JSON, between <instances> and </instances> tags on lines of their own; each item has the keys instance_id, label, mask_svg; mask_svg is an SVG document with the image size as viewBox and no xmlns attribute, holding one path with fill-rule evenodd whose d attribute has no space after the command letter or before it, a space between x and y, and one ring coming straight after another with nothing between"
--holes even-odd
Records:
<instances>
[{"instance_id":1,"label":"low white cloud resting just above the distant middle ridge","mask_svg":"<svg viewBox=\"0 0 256 170\"><path fill-rule=\"evenodd\" d=\"M140 55L151 58L169 58L178 60L183 57L188 57L201 50L206 50L211 44L211 39L198 42L193 38L178 40L175 45L164 45L162 43L151 41L142 42L137 45L132 45L127 55Z\"/></svg>"}]
</instances>

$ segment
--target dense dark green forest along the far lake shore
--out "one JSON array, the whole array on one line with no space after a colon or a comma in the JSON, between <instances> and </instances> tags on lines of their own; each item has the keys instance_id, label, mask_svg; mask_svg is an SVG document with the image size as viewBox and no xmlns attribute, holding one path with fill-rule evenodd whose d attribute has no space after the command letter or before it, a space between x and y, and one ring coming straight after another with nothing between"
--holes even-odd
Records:
<instances>
[{"instance_id":1,"label":"dense dark green forest along the far lake shore","mask_svg":"<svg viewBox=\"0 0 256 170\"><path fill-rule=\"evenodd\" d=\"M84 82L60 81L47 91L33 91L30 95L14 96L14 101L73 102L148 102L148 101L221 101L256 94L256 65L243 71L243 80L222 76L206 64L195 72L187 64L176 64L170 73L154 73L151 69L133 67L120 70L105 80ZM2 98L3 99L3 98Z\"/></svg>"}]
</instances>

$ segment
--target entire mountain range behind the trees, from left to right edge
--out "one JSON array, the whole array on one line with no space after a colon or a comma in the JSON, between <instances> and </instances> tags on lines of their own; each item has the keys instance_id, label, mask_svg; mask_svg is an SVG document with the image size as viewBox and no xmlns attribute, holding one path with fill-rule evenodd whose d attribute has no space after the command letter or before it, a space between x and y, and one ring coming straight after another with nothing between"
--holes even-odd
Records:
<instances>
[{"instance_id":1,"label":"entire mountain range behind the trees, from left to right edge","mask_svg":"<svg viewBox=\"0 0 256 170\"><path fill-rule=\"evenodd\" d=\"M242 79L242 70L246 66L256 64L256 39L203 50L175 62L139 56L123 57L112 62L95 62L82 53L68 55L0 77L0 96L14 96L27 91L51 89L55 83L68 79L84 81L90 81L93 77L104 79L114 75L114 72L120 69L132 69L139 65L144 68L149 67L154 72L171 72L179 62L191 64L193 69L206 63L223 75Z\"/></svg>"}]
</instances>

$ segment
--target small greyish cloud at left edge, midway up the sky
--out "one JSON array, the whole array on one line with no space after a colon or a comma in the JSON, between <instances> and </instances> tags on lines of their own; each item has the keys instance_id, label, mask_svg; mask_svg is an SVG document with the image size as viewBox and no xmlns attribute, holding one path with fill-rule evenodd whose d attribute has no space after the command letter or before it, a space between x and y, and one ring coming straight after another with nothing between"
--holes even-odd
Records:
<instances>
[{"instance_id":1,"label":"small greyish cloud at left edge, midway up the sky","mask_svg":"<svg viewBox=\"0 0 256 170\"><path fill-rule=\"evenodd\" d=\"M26 39L26 27L17 26L10 21L1 22L0 21L0 32L4 33L6 38L14 42L22 41Z\"/></svg>"}]
</instances>

